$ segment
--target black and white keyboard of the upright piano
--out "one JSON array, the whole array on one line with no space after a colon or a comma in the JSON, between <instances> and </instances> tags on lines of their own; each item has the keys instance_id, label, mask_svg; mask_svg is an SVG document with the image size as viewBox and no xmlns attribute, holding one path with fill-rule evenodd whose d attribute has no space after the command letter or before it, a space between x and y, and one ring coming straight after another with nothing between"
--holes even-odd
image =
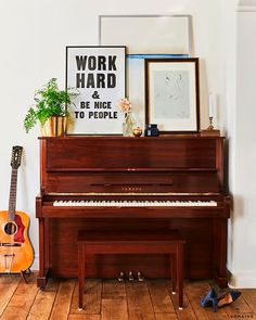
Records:
<instances>
[{"instance_id":1,"label":"black and white keyboard of the upright piano","mask_svg":"<svg viewBox=\"0 0 256 320\"><path fill-rule=\"evenodd\" d=\"M78 207L190 207L190 206L217 206L216 201L54 201L53 206Z\"/></svg>"}]
</instances>

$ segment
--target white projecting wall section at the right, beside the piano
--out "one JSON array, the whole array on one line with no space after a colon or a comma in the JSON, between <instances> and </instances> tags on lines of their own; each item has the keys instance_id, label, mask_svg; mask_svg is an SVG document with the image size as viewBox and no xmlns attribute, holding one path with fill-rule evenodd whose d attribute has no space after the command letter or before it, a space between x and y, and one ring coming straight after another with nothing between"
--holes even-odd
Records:
<instances>
[{"instance_id":1,"label":"white projecting wall section at the right, beside the piano","mask_svg":"<svg viewBox=\"0 0 256 320\"><path fill-rule=\"evenodd\" d=\"M232 145L232 180L234 196L233 219L230 228L230 243L233 273L231 285L256 287L256 1L242 0L235 14L235 87L233 121L230 124Z\"/></svg>"}]
</instances>

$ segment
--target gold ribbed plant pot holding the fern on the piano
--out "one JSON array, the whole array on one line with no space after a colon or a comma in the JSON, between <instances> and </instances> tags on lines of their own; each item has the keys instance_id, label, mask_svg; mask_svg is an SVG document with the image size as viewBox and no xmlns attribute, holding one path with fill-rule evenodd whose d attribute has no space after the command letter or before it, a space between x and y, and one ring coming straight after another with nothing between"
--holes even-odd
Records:
<instances>
[{"instance_id":1,"label":"gold ribbed plant pot holding the fern on the piano","mask_svg":"<svg viewBox=\"0 0 256 320\"><path fill-rule=\"evenodd\" d=\"M66 117L50 117L41 126L42 137L60 137L66 131Z\"/></svg>"}]
</instances>

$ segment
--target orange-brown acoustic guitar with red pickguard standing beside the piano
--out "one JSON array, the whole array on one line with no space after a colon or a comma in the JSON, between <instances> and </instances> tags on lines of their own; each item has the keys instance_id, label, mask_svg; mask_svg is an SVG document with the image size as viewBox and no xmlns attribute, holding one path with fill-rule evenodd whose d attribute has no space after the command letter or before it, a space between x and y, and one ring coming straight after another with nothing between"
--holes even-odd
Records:
<instances>
[{"instance_id":1,"label":"orange-brown acoustic guitar with red pickguard standing beside the piano","mask_svg":"<svg viewBox=\"0 0 256 320\"><path fill-rule=\"evenodd\" d=\"M34 251L28 239L29 217L16 212L17 169L23 148L12 149L12 176L9 210L0 212L0 273L24 273L33 264Z\"/></svg>"}]
</instances>

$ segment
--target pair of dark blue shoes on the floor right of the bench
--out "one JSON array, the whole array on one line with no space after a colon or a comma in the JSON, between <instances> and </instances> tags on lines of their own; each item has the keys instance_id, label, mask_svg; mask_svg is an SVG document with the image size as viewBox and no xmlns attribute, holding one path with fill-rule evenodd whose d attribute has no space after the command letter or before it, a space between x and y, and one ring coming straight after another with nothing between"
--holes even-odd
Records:
<instances>
[{"instance_id":1,"label":"pair of dark blue shoes on the floor right of the bench","mask_svg":"<svg viewBox=\"0 0 256 320\"><path fill-rule=\"evenodd\" d=\"M227 305L232 304L241 296L241 292L230 290L227 293L225 293L221 296L217 296L217 293L214 289L210 289L210 291L204 296L200 304L203 308L206 307L213 307L213 311L216 312L217 308L222 308Z\"/></svg>"}]
</instances>

